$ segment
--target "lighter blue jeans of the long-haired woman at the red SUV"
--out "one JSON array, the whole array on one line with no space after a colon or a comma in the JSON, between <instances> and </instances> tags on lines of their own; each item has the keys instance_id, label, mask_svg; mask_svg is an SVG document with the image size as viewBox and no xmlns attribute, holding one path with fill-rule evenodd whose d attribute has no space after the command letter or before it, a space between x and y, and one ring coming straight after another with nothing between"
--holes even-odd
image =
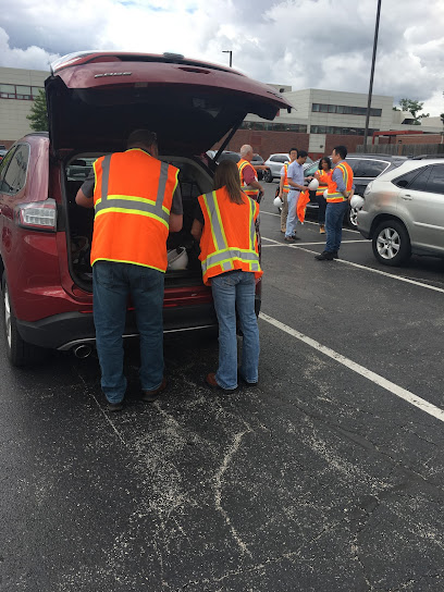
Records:
<instances>
[{"instance_id":1,"label":"lighter blue jeans of the long-haired woman at the red SUV","mask_svg":"<svg viewBox=\"0 0 444 592\"><path fill-rule=\"evenodd\" d=\"M219 321L219 369L215 382L232 391L237 386L236 310L244 334L240 374L246 382L258 381L259 329L255 313L255 274L231 271L211 278Z\"/></svg>"}]
</instances>

